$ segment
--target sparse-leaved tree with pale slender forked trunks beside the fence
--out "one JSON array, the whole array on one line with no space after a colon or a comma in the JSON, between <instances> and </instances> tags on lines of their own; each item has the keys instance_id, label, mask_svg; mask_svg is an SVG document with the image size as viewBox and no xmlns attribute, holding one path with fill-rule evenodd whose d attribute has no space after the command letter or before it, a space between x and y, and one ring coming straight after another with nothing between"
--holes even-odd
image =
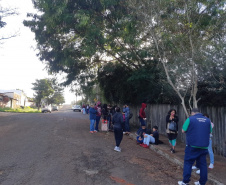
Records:
<instances>
[{"instance_id":1,"label":"sparse-leaved tree with pale slender forked trunks beside the fence","mask_svg":"<svg viewBox=\"0 0 226 185\"><path fill-rule=\"evenodd\" d=\"M220 65L222 56L214 58L211 50L225 53L225 1L200 0L129 0L129 7L143 22L140 29L147 50L155 54L164 68L168 83L181 99L188 116L190 107L198 105L198 80L210 66ZM224 52L220 51L224 49ZM155 50L153 52L153 50ZM211 57L211 60L209 59ZM214 58L214 60L212 60Z\"/></svg>"}]
</instances>

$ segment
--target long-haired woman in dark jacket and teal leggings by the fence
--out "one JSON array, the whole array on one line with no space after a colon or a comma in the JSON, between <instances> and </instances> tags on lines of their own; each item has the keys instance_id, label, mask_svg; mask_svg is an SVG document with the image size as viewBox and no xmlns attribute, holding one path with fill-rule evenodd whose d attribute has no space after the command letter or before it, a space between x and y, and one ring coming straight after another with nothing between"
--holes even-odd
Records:
<instances>
[{"instance_id":1,"label":"long-haired woman in dark jacket and teal leggings by the fence","mask_svg":"<svg viewBox=\"0 0 226 185\"><path fill-rule=\"evenodd\" d=\"M169 125L171 122L176 123L176 130L171 131L169 130ZM176 116L176 110L171 109L168 112L168 115L166 116L166 133L169 139L169 144L170 144L170 151L171 153L175 153L175 146L176 146L176 140L177 140L177 133L178 133L178 117Z\"/></svg>"}]
</instances>

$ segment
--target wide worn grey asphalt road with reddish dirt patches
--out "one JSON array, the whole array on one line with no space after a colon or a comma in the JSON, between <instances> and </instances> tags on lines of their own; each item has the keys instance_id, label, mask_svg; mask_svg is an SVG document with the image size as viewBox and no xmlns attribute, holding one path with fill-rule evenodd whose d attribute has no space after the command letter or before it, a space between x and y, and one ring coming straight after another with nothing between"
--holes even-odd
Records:
<instances>
[{"instance_id":1,"label":"wide worn grey asphalt road with reddish dirt patches","mask_svg":"<svg viewBox=\"0 0 226 185\"><path fill-rule=\"evenodd\" d=\"M88 115L0 113L1 185L177 184L182 169L125 136L89 133Z\"/></svg>"}]
</instances>

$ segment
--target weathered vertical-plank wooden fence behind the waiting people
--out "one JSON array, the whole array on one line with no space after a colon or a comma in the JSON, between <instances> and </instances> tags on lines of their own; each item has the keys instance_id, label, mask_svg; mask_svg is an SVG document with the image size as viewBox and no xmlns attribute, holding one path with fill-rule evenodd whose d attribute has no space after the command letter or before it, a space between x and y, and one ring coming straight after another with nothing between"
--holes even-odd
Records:
<instances>
[{"instance_id":1,"label":"weathered vertical-plank wooden fence behind the waiting people","mask_svg":"<svg viewBox=\"0 0 226 185\"><path fill-rule=\"evenodd\" d=\"M166 115L170 109L174 108L179 117L178 140L185 143L185 134L181 132L182 125L186 120L186 115L181 105L148 105L145 112L147 116L147 126L151 128L157 125L160 134L166 135ZM133 117L130 124L137 126L140 124L138 119L140 106L130 106ZM207 113L214 123L213 128L213 151L215 154L226 157L226 107L201 107L200 112Z\"/></svg>"}]
</instances>

